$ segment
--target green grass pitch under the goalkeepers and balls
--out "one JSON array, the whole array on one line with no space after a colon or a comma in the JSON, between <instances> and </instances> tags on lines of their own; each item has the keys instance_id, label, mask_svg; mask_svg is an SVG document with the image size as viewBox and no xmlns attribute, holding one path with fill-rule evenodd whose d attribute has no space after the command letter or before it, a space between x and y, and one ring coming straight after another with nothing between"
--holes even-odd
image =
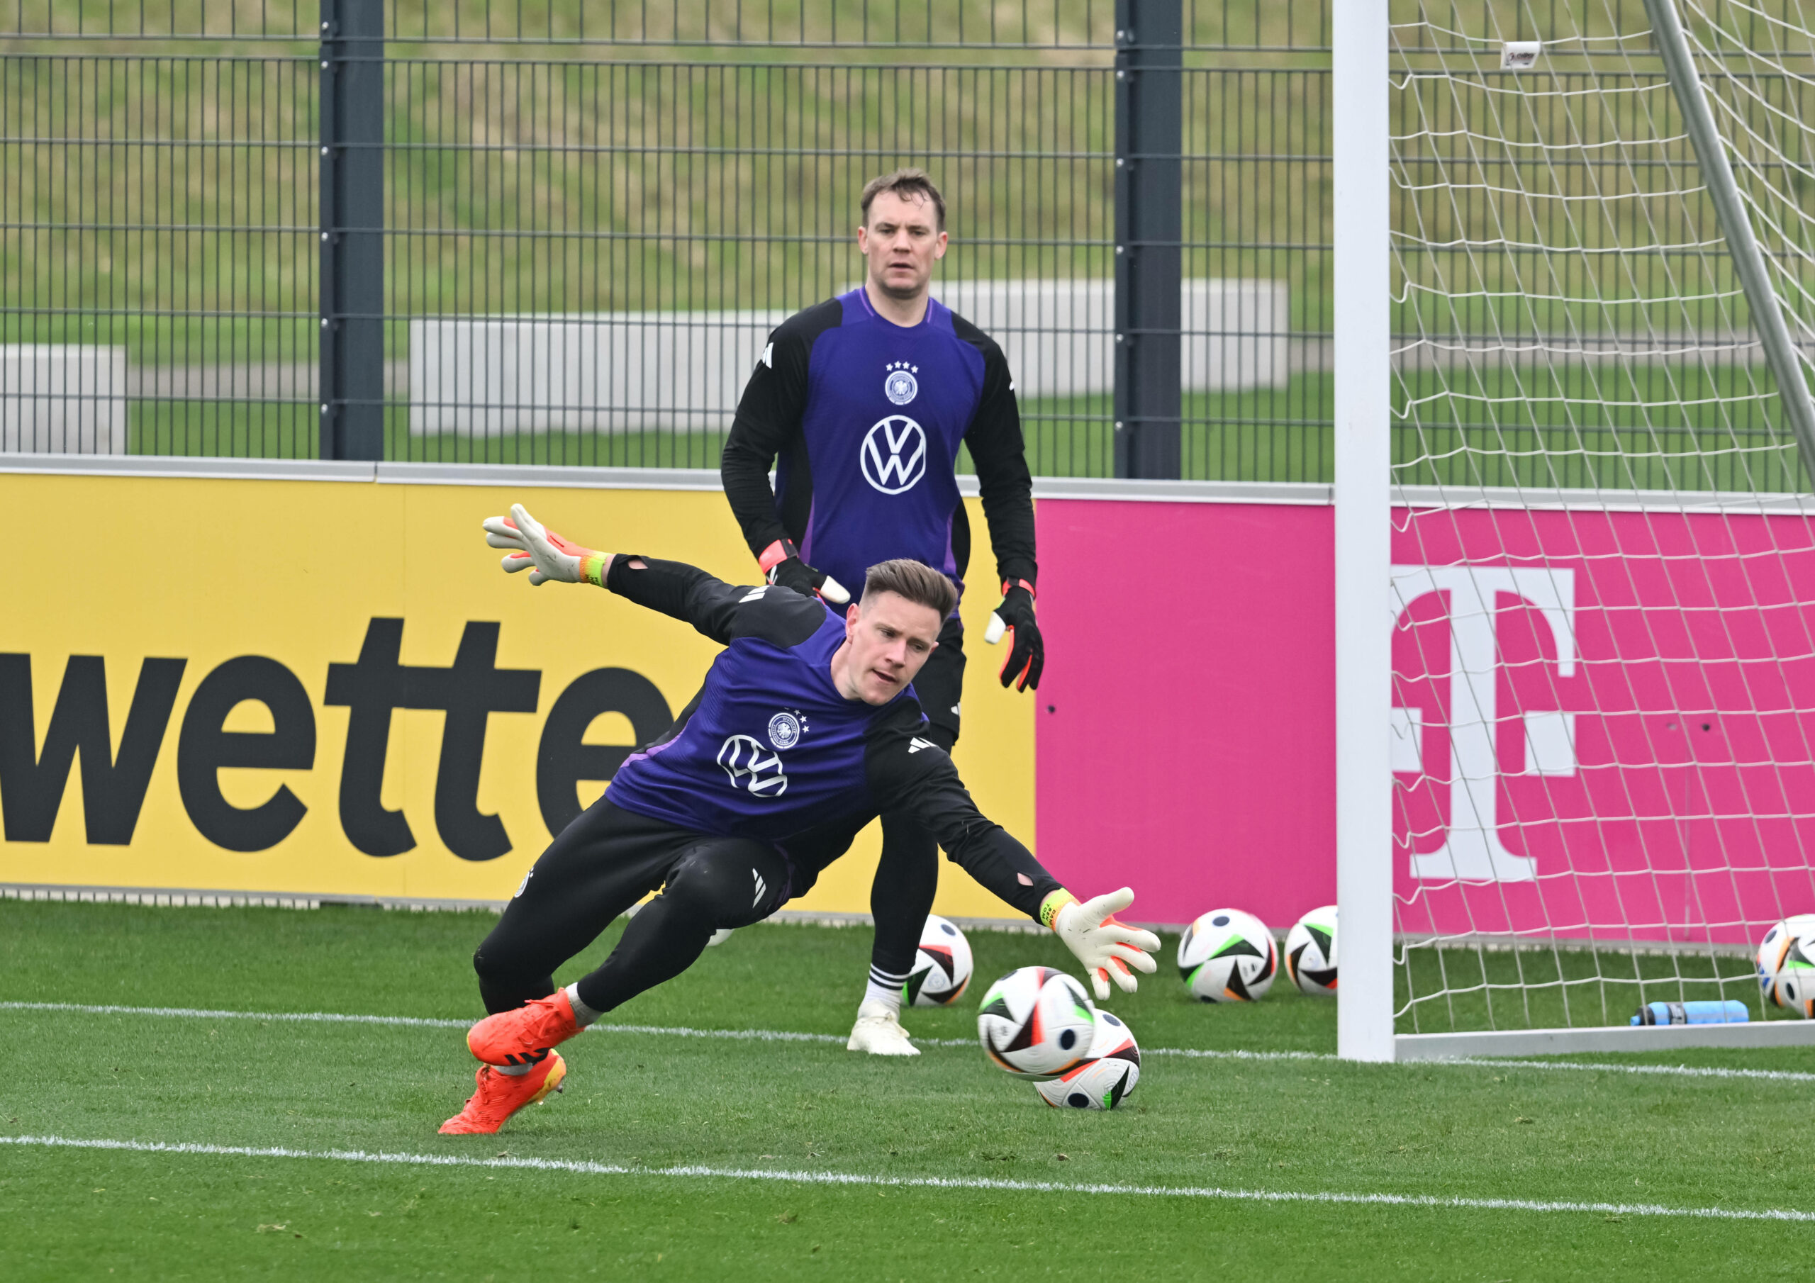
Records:
<instances>
[{"instance_id":1,"label":"green grass pitch under the goalkeepers and balls","mask_svg":"<svg viewBox=\"0 0 1815 1283\"><path fill-rule=\"evenodd\" d=\"M7 900L0 1002L466 1020L488 924ZM969 1040L989 978L1065 958L971 942L969 998L906 1020L960 1045L588 1033L566 1092L490 1138L436 1134L470 1087L457 1025L0 1007L0 1136L216 1147L0 1143L0 1278L1790 1278L1815 1252L1815 1221L1710 1214L1815 1209L1811 1053L1663 1058L1777 1078L1349 1065L1334 1004L1203 1007L1163 965L1109 1004L1149 1053L1314 1054L1149 1054L1122 1111L1051 1111ZM868 951L751 927L608 1022L842 1036Z\"/></svg>"}]
</instances>

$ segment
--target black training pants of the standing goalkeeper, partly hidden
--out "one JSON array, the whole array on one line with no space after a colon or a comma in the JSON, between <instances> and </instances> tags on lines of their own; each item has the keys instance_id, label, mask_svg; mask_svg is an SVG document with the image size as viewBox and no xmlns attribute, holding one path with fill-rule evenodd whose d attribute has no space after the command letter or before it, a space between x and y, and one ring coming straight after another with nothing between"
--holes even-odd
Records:
<instances>
[{"instance_id":1,"label":"black training pants of the standing goalkeeper, partly hidden","mask_svg":"<svg viewBox=\"0 0 1815 1283\"><path fill-rule=\"evenodd\" d=\"M949 753L958 742L958 700L964 693L964 626L957 617L940 628L938 646L913 679L913 688L931 722L926 737ZM869 887L869 916L877 924L869 964L877 971L908 974L937 891L938 842L911 815L884 815L882 860Z\"/></svg>"}]
</instances>

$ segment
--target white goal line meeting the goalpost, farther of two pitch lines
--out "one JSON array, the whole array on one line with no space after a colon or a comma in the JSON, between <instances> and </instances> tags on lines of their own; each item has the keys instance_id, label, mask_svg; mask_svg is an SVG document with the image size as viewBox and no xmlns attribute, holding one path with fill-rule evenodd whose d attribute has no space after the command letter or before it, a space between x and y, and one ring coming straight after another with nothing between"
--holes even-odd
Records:
<instances>
[{"instance_id":1,"label":"white goal line meeting the goalpost, farther of two pitch lines","mask_svg":"<svg viewBox=\"0 0 1815 1283\"><path fill-rule=\"evenodd\" d=\"M174 1016L182 1020L260 1020L325 1025L403 1025L417 1029L468 1029L472 1020L437 1016L361 1016L339 1011L216 1011L211 1007L129 1007L78 1002L0 1002L0 1011L69 1011L83 1016ZM731 1038L737 1042L819 1042L842 1043L844 1034L804 1034L790 1029L690 1029L686 1025L588 1025L597 1034L655 1034L662 1038ZM971 1038L915 1038L922 1047L975 1047ZM1185 1060L1309 1060L1339 1062L1318 1051L1216 1051L1209 1047L1142 1047L1142 1056L1180 1056ZM1550 1072L1663 1074L1670 1078L1751 1078L1757 1082L1815 1082L1815 1072L1795 1069L1726 1069L1719 1065L1621 1065L1590 1060L1494 1060L1461 1056L1456 1060L1419 1060L1419 1069L1543 1069Z\"/></svg>"}]
</instances>

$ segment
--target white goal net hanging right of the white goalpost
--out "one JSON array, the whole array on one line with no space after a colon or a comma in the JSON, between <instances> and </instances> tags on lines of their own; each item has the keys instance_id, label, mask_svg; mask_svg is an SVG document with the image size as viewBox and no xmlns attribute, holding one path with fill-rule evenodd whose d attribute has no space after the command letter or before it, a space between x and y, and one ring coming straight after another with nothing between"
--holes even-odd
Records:
<instances>
[{"instance_id":1,"label":"white goal net hanging right of the white goalpost","mask_svg":"<svg viewBox=\"0 0 1815 1283\"><path fill-rule=\"evenodd\" d=\"M1659 4L1390 7L1401 1056L1781 1020L1815 911L1815 13L1677 0L1722 172Z\"/></svg>"}]
</instances>

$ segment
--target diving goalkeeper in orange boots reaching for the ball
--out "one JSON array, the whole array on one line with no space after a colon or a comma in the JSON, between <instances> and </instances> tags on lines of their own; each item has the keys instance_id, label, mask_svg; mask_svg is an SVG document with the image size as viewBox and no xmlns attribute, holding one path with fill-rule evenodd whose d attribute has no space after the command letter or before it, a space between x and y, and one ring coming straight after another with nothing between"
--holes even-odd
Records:
<instances>
[{"instance_id":1,"label":"diving goalkeeper in orange boots reaching for the ball","mask_svg":"<svg viewBox=\"0 0 1815 1283\"><path fill-rule=\"evenodd\" d=\"M466 1034L483 1065L448 1134L495 1132L559 1091L554 1049L606 1011L686 971L713 931L804 895L884 809L915 815L949 858L1049 926L1091 974L1134 989L1158 936L1113 918L1123 887L1080 904L984 818L951 759L924 737L913 677L957 604L917 561L871 566L844 615L784 588L733 588L702 570L604 555L544 530L521 504L485 523L530 583L590 583L693 624L726 650L657 742L632 753L548 846L474 955L486 1011ZM659 891L604 964L555 989L554 969Z\"/></svg>"}]
</instances>

